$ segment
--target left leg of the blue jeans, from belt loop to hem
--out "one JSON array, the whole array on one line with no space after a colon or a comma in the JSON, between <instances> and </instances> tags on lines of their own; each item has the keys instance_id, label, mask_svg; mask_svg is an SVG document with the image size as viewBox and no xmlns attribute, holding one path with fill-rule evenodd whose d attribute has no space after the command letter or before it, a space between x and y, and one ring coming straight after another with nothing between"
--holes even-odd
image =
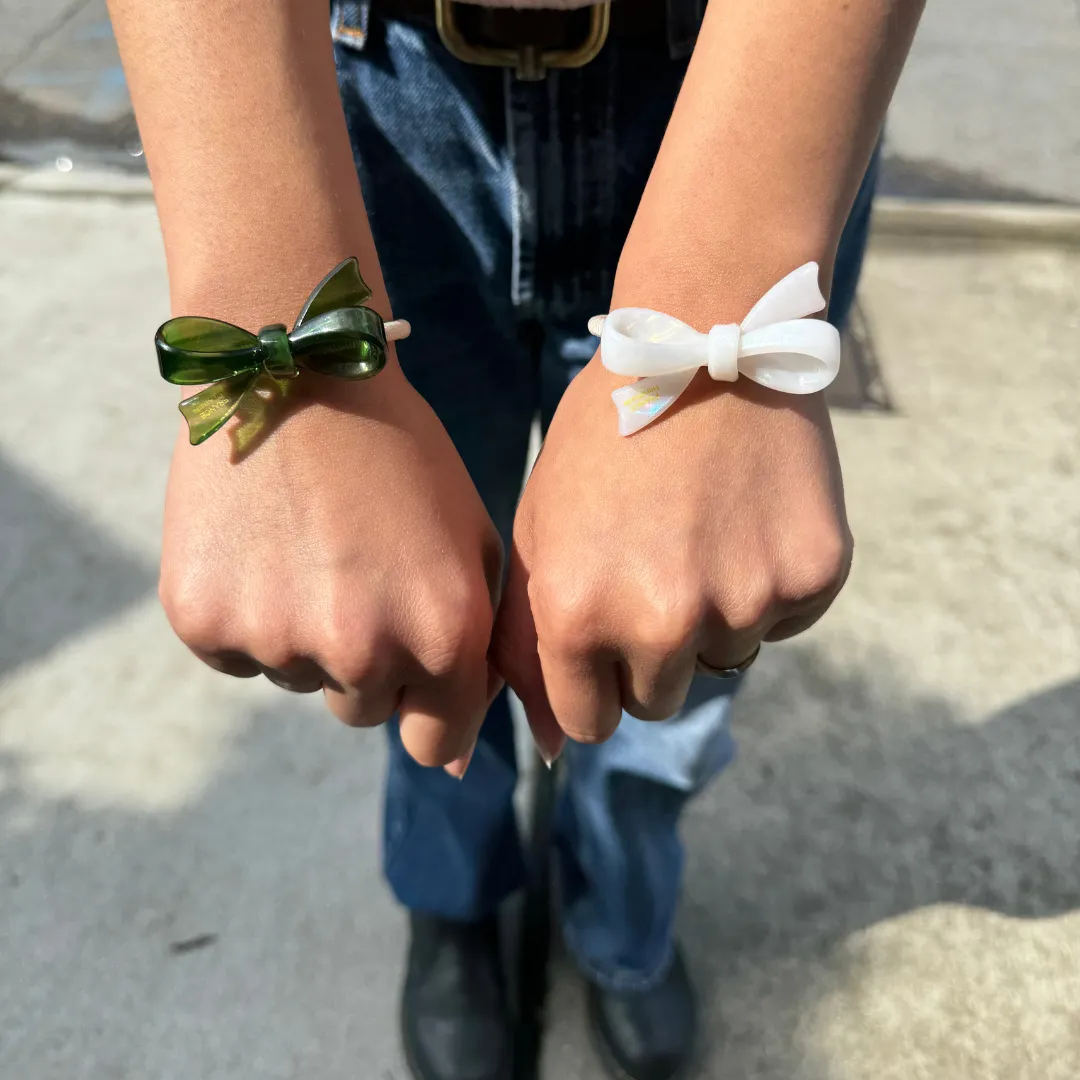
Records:
<instances>
[{"instance_id":1,"label":"left leg of the blue jeans, from belt loop to hem","mask_svg":"<svg viewBox=\"0 0 1080 1080\"><path fill-rule=\"evenodd\" d=\"M355 13L355 14L354 14ZM509 178L488 134L501 72L468 77L432 35L335 9L338 80L394 312L402 367L446 427L509 541L535 405L509 297ZM352 16L352 17L350 17ZM402 543L408 538L402 537ZM406 907L474 919L525 880L505 694L464 781L424 769L388 725L383 872Z\"/></svg>"}]
</instances>

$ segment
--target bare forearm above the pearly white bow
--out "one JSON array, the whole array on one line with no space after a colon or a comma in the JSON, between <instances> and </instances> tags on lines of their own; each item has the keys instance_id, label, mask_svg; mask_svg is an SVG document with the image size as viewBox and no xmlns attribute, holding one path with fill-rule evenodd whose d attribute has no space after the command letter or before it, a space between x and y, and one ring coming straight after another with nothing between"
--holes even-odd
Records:
<instances>
[{"instance_id":1,"label":"bare forearm above the pearly white bow","mask_svg":"<svg viewBox=\"0 0 1080 1080\"><path fill-rule=\"evenodd\" d=\"M707 328L816 259L827 289L922 0L710 3L613 307Z\"/></svg>"}]
</instances>

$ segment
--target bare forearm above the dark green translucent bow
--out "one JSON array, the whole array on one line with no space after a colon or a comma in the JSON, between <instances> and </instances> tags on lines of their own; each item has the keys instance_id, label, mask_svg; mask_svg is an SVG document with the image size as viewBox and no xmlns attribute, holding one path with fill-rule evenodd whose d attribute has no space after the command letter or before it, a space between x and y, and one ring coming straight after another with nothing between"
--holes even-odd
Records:
<instances>
[{"instance_id":1,"label":"bare forearm above the dark green translucent bow","mask_svg":"<svg viewBox=\"0 0 1080 1080\"><path fill-rule=\"evenodd\" d=\"M390 315L325 4L109 0L177 313L292 324L356 255Z\"/></svg>"}]
</instances>

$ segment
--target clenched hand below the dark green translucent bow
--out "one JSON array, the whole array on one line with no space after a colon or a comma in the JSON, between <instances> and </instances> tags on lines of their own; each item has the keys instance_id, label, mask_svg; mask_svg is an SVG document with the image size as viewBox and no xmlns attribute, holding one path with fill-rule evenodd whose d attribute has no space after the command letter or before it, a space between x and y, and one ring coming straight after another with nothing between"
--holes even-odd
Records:
<instances>
[{"instance_id":1,"label":"clenched hand below the dark green translucent bow","mask_svg":"<svg viewBox=\"0 0 1080 1080\"><path fill-rule=\"evenodd\" d=\"M498 535L395 361L369 382L306 374L295 387L242 460L228 429L198 447L177 438L170 622L212 667L323 689L346 724L400 710L413 757L460 775L499 685L486 659Z\"/></svg>"}]
</instances>

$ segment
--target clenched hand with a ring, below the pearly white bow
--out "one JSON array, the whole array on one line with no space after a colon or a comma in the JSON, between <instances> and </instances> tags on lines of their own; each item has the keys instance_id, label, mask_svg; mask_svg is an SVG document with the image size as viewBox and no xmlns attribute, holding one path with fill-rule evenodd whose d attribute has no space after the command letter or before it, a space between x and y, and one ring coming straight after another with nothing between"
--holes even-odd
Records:
<instances>
[{"instance_id":1,"label":"clenched hand with a ring, below the pearly white bow","mask_svg":"<svg viewBox=\"0 0 1080 1080\"><path fill-rule=\"evenodd\" d=\"M805 630L839 592L851 537L828 414L699 376L621 437L594 357L571 382L514 524L492 659L541 753L600 742L622 708L662 719L700 657L735 666Z\"/></svg>"}]
</instances>

